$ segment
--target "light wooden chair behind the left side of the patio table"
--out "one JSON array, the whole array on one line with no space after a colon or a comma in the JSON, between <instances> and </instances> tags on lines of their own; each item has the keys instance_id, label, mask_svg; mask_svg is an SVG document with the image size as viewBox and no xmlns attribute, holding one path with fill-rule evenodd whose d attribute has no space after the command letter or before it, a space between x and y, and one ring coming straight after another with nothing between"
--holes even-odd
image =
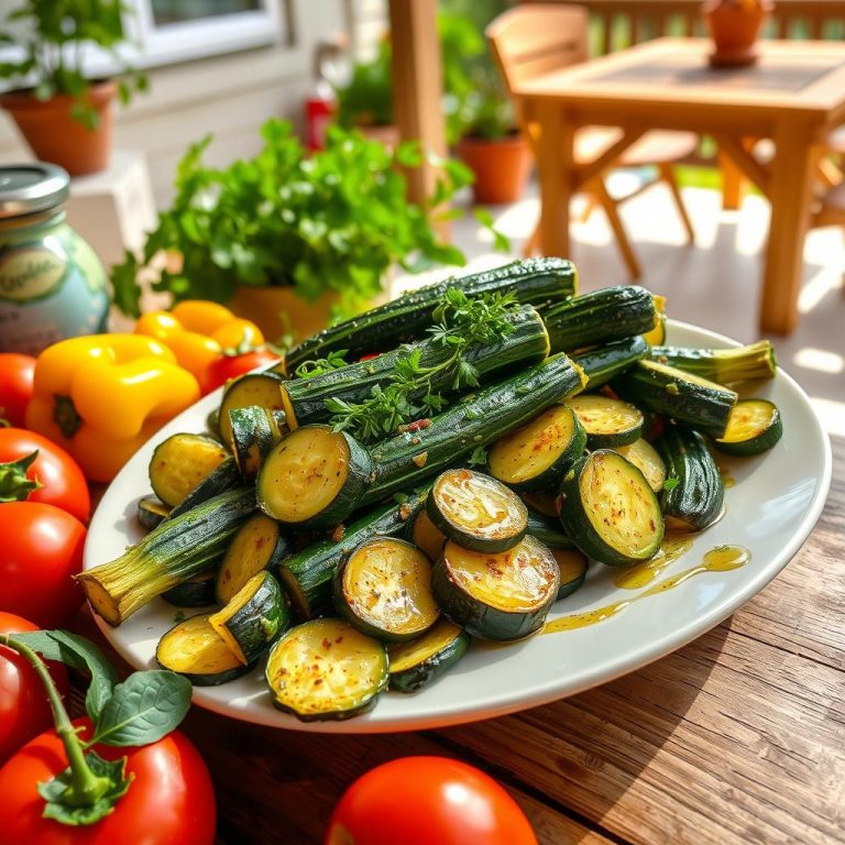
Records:
<instances>
[{"instance_id":1,"label":"light wooden chair behind the left side of the patio table","mask_svg":"<svg viewBox=\"0 0 845 845\"><path fill-rule=\"evenodd\" d=\"M520 129L536 152L541 128L529 123L523 113L518 97L513 91L518 83L547 74L561 67L585 62L588 56L586 9L559 3L525 3L503 12L485 30L505 85L514 99ZM577 165L586 166L611 149L622 136L613 128L585 127L575 134L573 155ZM624 197L613 197L604 182L605 173L586 183L589 193L588 213L600 205L611 223L623 260L632 277L641 275L639 262L619 219L618 206L657 182L665 182L678 207L687 235L692 243L694 232L683 206L672 164L695 150L698 136L690 132L651 131L629 146L615 160L615 167L643 167L657 169L657 178ZM610 169L610 168L608 168ZM525 253L537 248L539 226L526 244Z\"/></svg>"}]
</instances>

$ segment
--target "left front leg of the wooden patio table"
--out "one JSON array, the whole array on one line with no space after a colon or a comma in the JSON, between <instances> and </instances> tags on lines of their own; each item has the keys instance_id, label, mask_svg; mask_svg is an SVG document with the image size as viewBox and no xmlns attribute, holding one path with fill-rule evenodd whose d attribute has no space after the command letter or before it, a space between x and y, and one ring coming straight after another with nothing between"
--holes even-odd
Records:
<instances>
[{"instance_id":1,"label":"left front leg of the wooden patio table","mask_svg":"<svg viewBox=\"0 0 845 845\"><path fill-rule=\"evenodd\" d=\"M533 119L542 128L537 147L540 179L540 250L544 255L570 257L569 202L572 193L572 142L563 109L540 101L531 107Z\"/></svg>"}]
</instances>

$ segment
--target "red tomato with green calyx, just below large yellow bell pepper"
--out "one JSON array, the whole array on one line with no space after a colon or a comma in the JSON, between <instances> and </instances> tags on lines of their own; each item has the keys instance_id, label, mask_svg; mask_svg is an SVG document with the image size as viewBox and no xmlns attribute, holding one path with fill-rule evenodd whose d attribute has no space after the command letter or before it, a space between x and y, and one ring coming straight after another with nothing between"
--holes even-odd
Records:
<instances>
[{"instance_id":1,"label":"red tomato with green calyx, just below large yellow bell pepper","mask_svg":"<svg viewBox=\"0 0 845 845\"><path fill-rule=\"evenodd\" d=\"M91 515L91 496L79 464L46 437L22 428L0 428L0 463L26 458L36 449L39 457L26 471L26 478L40 481L44 486L30 493L25 501L55 505L87 523Z\"/></svg>"}]
</instances>

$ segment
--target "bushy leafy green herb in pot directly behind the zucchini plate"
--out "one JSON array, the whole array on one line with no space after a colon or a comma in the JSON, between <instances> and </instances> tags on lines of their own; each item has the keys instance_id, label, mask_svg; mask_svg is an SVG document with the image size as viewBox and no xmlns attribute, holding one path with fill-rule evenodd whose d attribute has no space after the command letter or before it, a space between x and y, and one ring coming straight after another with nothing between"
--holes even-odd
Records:
<instances>
[{"instance_id":1,"label":"bushy leafy green herb in pot directly behind the zucchini plate","mask_svg":"<svg viewBox=\"0 0 845 845\"><path fill-rule=\"evenodd\" d=\"M232 306L234 298L233 309L267 337L307 336L330 310L349 315L380 295L394 264L418 271L464 263L435 228L438 207L471 182L460 162L440 163L435 195L419 207L407 200L400 169L421 164L416 144L387 149L332 127L326 149L309 157L286 121L267 121L262 135L254 158L223 169L202 164L210 138L190 147L178 165L175 199L140 260L127 253L112 268L123 312L138 316L139 276L152 273L152 289L174 300ZM176 261L163 265L163 255ZM244 294L246 300L259 295L257 314L244 314ZM281 301L264 301L267 295Z\"/></svg>"}]
</instances>

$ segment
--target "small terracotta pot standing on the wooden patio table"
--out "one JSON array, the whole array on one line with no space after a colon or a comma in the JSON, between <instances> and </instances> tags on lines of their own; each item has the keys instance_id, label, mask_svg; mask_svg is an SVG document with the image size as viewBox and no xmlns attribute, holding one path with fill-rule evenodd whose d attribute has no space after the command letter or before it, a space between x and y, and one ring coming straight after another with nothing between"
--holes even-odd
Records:
<instances>
[{"instance_id":1,"label":"small terracotta pot standing on the wooden patio table","mask_svg":"<svg viewBox=\"0 0 845 845\"><path fill-rule=\"evenodd\" d=\"M704 0L702 13L713 40L710 64L742 67L757 61L757 39L772 0Z\"/></svg>"}]
</instances>

